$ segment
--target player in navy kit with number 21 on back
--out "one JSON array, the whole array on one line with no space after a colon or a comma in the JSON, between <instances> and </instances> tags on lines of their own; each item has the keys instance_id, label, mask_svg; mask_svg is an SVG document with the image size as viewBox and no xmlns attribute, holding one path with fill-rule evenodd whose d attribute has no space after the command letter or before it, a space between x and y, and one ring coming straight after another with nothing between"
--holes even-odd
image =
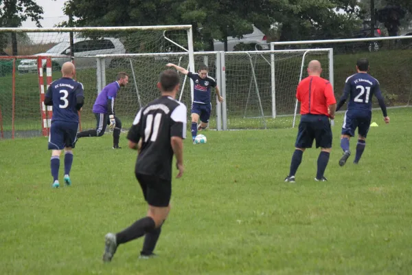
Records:
<instances>
[{"instance_id":1,"label":"player in navy kit with number 21 on back","mask_svg":"<svg viewBox=\"0 0 412 275\"><path fill-rule=\"evenodd\" d=\"M339 160L339 165L344 166L348 157L350 157L349 141L354 137L356 128L358 128L358 143L356 144L356 155L354 164L358 164L363 151L365 151L366 135L369 131L372 118L372 96L378 98L380 109L382 109L383 120L389 123L389 116L380 92L379 82L367 72L369 71L369 61L367 58L359 58L356 62L356 72L346 79L343 96L339 100L336 111L341 109L348 97L350 102L347 103L347 111L343 119L341 148L343 156Z\"/></svg>"}]
</instances>

